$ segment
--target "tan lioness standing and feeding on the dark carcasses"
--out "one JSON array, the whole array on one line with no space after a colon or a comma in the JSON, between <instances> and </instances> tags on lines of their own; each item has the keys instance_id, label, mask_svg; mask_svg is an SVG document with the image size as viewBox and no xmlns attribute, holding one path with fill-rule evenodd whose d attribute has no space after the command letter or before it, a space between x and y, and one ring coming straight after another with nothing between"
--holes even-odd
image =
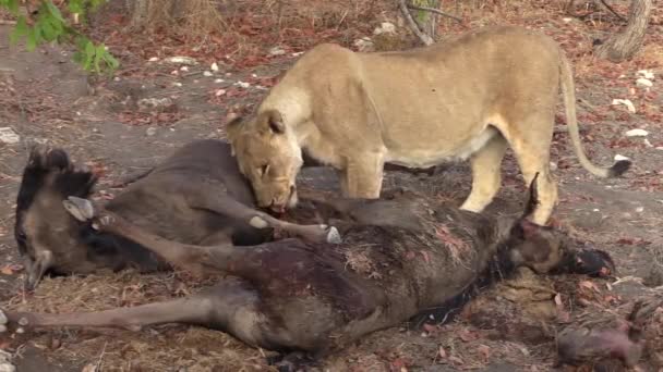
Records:
<instances>
[{"instance_id":1,"label":"tan lioness standing and feeding on the dark carcasses","mask_svg":"<svg viewBox=\"0 0 663 372\"><path fill-rule=\"evenodd\" d=\"M470 159L472 191L463 210L481 212L501 186L510 145L525 182L539 172L545 224L557 202L550 171L555 103L562 87L569 134L580 163L599 177L630 166L592 164L576 121L572 72L550 37L491 27L451 41L398 52L357 53L324 44L305 53L250 121L228 124L241 172L261 207L297 203L302 149L341 171L352 198L378 198L385 163L427 168Z\"/></svg>"}]
</instances>

